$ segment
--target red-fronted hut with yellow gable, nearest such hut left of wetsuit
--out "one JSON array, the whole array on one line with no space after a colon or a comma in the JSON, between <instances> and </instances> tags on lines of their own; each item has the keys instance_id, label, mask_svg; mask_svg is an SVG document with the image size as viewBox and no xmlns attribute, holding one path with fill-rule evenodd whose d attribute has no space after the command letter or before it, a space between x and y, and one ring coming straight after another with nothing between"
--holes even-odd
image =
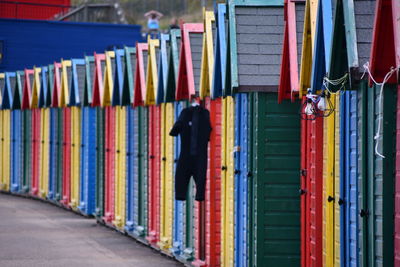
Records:
<instances>
[{"instance_id":1,"label":"red-fronted hut with yellow gable, nearest such hut left of wetsuit","mask_svg":"<svg viewBox=\"0 0 400 267\"><path fill-rule=\"evenodd\" d=\"M147 39L147 70L144 104L148 106L148 232L147 241L157 246L160 238L160 178L161 178L161 107L157 99L157 57L160 41Z\"/></svg>"}]
</instances>

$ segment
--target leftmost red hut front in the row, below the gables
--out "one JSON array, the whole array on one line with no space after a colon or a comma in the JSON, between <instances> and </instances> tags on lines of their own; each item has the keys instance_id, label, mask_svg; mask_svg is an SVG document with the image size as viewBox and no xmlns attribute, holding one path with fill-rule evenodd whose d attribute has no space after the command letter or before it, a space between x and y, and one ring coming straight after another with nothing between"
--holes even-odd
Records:
<instances>
[{"instance_id":1,"label":"leftmost red hut front in the row, below the gables","mask_svg":"<svg viewBox=\"0 0 400 267\"><path fill-rule=\"evenodd\" d=\"M40 109L32 109L32 142L31 142L31 194L37 196L39 192L39 164L40 164Z\"/></svg>"}]
</instances>

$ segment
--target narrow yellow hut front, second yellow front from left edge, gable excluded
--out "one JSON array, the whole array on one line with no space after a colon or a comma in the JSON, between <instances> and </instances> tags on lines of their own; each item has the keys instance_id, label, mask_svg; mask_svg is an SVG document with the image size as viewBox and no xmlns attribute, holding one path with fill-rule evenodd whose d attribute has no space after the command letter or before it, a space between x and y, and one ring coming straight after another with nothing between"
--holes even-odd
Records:
<instances>
[{"instance_id":1,"label":"narrow yellow hut front, second yellow front from left edge, gable excluded","mask_svg":"<svg viewBox=\"0 0 400 267\"><path fill-rule=\"evenodd\" d=\"M49 136L50 136L50 109L44 108L40 112L40 169L39 195L46 198L49 189Z\"/></svg>"}]
</instances>

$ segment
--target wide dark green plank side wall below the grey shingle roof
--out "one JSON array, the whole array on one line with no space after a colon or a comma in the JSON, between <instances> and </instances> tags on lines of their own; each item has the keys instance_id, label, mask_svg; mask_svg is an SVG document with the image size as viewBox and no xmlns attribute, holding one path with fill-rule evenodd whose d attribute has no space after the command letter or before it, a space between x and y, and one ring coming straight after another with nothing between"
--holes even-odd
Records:
<instances>
[{"instance_id":1,"label":"wide dark green plank side wall below the grey shingle roof","mask_svg":"<svg viewBox=\"0 0 400 267\"><path fill-rule=\"evenodd\" d=\"M300 105L276 98L253 93L251 100L252 266L300 265Z\"/></svg>"}]
</instances>

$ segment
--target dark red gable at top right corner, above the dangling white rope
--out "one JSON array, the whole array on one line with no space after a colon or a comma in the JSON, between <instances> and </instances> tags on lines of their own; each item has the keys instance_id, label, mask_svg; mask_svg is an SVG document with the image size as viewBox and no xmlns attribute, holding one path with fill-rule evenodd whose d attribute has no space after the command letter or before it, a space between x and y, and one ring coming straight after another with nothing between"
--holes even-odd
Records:
<instances>
[{"instance_id":1,"label":"dark red gable at top right corner, above the dangling white rope","mask_svg":"<svg viewBox=\"0 0 400 267\"><path fill-rule=\"evenodd\" d=\"M396 66L393 25L392 0L377 0L370 59L371 73L377 82L382 82L390 68ZM389 83L395 82L393 75Z\"/></svg>"}]
</instances>

